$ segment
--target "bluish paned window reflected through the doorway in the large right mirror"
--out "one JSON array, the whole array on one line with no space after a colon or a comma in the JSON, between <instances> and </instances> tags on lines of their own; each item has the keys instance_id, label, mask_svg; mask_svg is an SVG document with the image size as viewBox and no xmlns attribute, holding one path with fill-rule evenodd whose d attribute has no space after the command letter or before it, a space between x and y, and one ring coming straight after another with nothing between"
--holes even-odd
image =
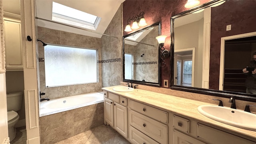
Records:
<instances>
[{"instance_id":1,"label":"bluish paned window reflected through the doorway in the large right mirror","mask_svg":"<svg viewBox=\"0 0 256 144\"><path fill-rule=\"evenodd\" d=\"M184 84L192 84L192 60L183 61L182 82Z\"/></svg>"}]
</instances>

